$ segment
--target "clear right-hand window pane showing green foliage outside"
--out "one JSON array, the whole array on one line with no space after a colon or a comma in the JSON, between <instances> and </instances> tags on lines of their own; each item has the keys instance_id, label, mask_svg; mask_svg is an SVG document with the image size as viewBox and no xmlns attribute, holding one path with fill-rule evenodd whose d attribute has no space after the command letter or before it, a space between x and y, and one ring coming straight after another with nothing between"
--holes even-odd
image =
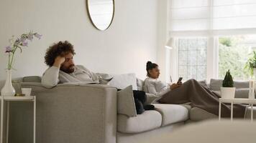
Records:
<instances>
[{"instance_id":1,"label":"clear right-hand window pane showing green foliage outside","mask_svg":"<svg viewBox=\"0 0 256 143\"><path fill-rule=\"evenodd\" d=\"M250 73L244 66L255 46L256 35L220 36L219 78L223 79L230 69L234 79L249 79Z\"/></svg>"}]
</instances>

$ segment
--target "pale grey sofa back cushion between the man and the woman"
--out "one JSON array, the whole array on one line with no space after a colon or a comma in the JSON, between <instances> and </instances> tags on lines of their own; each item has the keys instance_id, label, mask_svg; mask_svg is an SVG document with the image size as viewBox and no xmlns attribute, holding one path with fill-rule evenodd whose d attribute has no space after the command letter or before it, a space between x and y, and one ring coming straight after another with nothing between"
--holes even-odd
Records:
<instances>
[{"instance_id":1,"label":"pale grey sofa back cushion between the man and the woman","mask_svg":"<svg viewBox=\"0 0 256 143\"><path fill-rule=\"evenodd\" d=\"M113 79L109 82L111 87L118 89L124 89L125 87L132 85L133 90L137 90L137 79L135 74L113 74Z\"/></svg>"}]
</instances>

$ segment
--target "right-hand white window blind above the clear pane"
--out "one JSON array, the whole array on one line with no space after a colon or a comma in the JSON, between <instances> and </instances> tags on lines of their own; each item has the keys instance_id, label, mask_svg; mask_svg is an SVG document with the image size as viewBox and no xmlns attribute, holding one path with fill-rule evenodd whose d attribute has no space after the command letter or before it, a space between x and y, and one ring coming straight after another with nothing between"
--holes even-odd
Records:
<instances>
[{"instance_id":1,"label":"right-hand white window blind above the clear pane","mask_svg":"<svg viewBox=\"0 0 256 143\"><path fill-rule=\"evenodd\" d=\"M255 0L214 0L214 29L256 28Z\"/></svg>"}]
</instances>

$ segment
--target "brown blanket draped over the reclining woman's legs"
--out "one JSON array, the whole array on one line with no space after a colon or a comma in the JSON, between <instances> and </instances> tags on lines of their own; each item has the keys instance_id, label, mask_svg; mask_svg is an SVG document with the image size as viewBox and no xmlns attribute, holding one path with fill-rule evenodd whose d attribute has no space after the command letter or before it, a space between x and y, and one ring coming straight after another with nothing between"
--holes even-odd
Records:
<instances>
[{"instance_id":1,"label":"brown blanket draped over the reclining woman's legs","mask_svg":"<svg viewBox=\"0 0 256 143\"><path fill-rule=\"evenodd\" d=\"M191 102L192 107L198 107L212 114L219 114L219 96L201 86L195 79L190 79L177 89L173 89L158 102L163 104L182 104ZM244 117L245 107L234 104L234 117ZM230 117L230 106L221 104L221 117Z\"/></svg>"}]
</instances>

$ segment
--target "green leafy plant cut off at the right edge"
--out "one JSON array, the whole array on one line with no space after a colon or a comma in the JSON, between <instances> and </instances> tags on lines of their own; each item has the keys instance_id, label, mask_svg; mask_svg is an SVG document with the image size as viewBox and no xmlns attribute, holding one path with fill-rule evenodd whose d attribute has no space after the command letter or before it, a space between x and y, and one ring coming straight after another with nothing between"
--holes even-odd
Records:
<instances>
[{"instance_id":1,"label":"green leafy plant cut off at the right edge","mask_svg":"<svg viewBox=\"0 0 256 143\"><path fill-rule=\"evenodd\" d=\"M250 76L252 79L256 79L256 51L252 51L249 59L247 60L244 69L250 71Z\"/></svg>"}]
</instances>

